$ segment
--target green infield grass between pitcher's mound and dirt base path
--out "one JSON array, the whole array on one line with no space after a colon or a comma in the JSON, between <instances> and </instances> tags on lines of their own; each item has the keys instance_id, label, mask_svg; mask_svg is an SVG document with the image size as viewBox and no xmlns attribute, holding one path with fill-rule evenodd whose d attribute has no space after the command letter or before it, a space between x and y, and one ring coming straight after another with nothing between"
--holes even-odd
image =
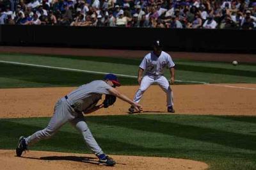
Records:
<instances>
[{"instance_id":1,"label":"green infield grass between pitcher's mound and dirt base path","mask_svg":"<svg viewBox=\"0 0 256 170\"><path fill-rule=\"evenodd\" d=\"M14 149L19 135L44 128L49 118L0 119L0 148ZM87 116L102 149L110 155L188 158L210 169L256 168L255 116ZM69 124L31 150L90 153Z\"/></svg>"}]
</instances>

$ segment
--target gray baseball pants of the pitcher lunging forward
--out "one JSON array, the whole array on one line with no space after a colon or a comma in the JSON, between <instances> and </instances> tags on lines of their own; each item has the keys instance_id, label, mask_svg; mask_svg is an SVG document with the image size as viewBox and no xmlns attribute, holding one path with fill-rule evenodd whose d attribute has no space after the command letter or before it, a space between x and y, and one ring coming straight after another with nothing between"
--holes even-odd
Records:
<instances>
[{"instance_id":1,"label":"gray baseball pants of the pitcher lunging forward","mask_svg":"<svg viewBox=\"0 0 256 170\"><path fill-rule=\"evenodd\" d=\"M95 141L92 132L88 128L88 125L84 121L83 114L74 112L65 98L61 98L56 103L54 107L54 114L47 127L27 137L26 143L28 143L28 146L31 146L42 139L50 138L67 122L70 122L77 128L77 130L79 130L79 132L81 132L84 142L93 151L93 153L95 153L95 155L103 153L100 146Z\"/></svg>"}]
</instances>

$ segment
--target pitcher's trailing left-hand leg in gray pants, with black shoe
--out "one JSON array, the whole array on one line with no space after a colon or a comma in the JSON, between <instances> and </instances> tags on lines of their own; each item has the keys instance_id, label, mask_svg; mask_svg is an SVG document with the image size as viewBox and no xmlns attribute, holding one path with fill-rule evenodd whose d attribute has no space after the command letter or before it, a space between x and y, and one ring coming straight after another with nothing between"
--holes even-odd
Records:
<instances>
[{"instance_id":1,"label":"pitcher's trailing left-hand leg in gray pants, with black shoe","mask_svg":"<svg viewBox=\"0 0 256 170\"><path fill-rule=\"evenodd\" d=\"M73 119L74 116L68 109L70 108L65 100L58 100L54 107L54 114L46 128L29 135L29 137L20 137L19 145L16 149L17 156L20 156L24 150L28 150L28 146L51 137L68 120Z\"/></svg>"}]
</instances>

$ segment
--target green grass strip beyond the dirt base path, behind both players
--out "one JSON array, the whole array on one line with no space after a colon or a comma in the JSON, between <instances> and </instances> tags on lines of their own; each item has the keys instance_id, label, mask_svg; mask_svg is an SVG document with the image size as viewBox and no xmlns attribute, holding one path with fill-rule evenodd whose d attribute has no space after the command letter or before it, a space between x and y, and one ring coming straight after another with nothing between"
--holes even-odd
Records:
<instances>
[{"instance_id":1,"label":"green grass strip beyond the dirt base path, behind both players","mask_svg":"<svg viewBox=\"0 0 256 170\"><path fill-rule=\"evenodd\" d=\"M0 60L29 63L35 65L75 68L94 72L111 72L136 76L141 59L81 57L81 56L43 56L25 54L0 54ZM176 79L184 82L176 84L191 84L186 81L209 83L256 83L256 65L231 63L175 60ZM168 70L165 76L170 79ZM61 71L52 68L34 66L19 66L0 63L0 88L47 87L47 86L79 86L102 75ZM137 84L136 79L122 79L122 84Z\"/></svg>"}]
</instances>

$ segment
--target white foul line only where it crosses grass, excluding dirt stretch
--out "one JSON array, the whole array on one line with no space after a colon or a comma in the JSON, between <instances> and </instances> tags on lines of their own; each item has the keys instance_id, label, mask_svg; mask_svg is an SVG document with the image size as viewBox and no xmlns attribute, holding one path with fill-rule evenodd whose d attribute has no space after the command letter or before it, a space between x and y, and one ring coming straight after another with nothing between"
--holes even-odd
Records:
<instances>
[{"instance_id":1,"label":"white foul line only where it crosses grass, excluding dirt stretch","mask_svg":"<svg viewBox=\"0 0 256 170\"><path fill-rule=\"evenodd\" d=\"M108 72L95 72L95 71L89 71L89 70L80 70L80 69L75 69L75 68L64 68L64 67L58 67L58 66L47 66L47 65L35 65L35 64L29 64L29 63L19 63L19 62L13 62L13 61L3 61L0 60L0 63L8 63L8 64L13 64L13 65L24 65L24 66L35 66L35 67L40 67L40 68L51 68L51 69L56 69L56 70L67 70L67 71L74 71L74 72L83 72L83 73L95 73L95 74L100 74L100 75L106 75ZM115 73L115 75L119 77L128 77L128 78L137 78L137 76L134 75L125 75L125 74L120 74L120 73ZM175 80L177 82L195 82L199 84L209 84L209 82L201 82L201 81L181 81L181 80Z\"/></svg>"}]
</instances>

